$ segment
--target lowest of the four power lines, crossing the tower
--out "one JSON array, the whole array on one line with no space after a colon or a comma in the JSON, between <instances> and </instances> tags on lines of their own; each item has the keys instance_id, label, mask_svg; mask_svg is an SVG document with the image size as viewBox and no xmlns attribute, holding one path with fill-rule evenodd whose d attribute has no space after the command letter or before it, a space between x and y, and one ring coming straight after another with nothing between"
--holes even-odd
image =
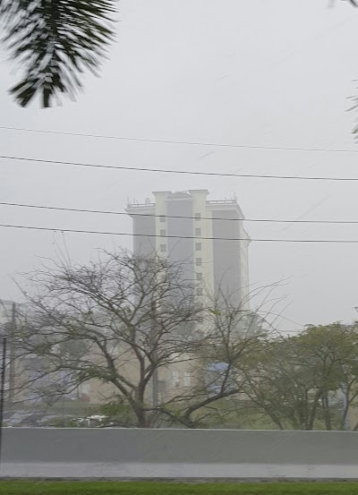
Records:
<instances>
[{"instance_id":1,"label":"lowest of the four power lines, crossing the tower","mask_svg":"<svg viewBox=\"0 0 358 495\"><path fill-rule=\"evenodd\" d=\"M0 227L19 228L29 230L40 230L47 232L68 232L75 234L97 234L97 235L125 235L130 237L161 237L162 239L196 239L197 241L251 241L254 243L338 243L358 244L354 239L251 239L244 237L200 237L195 235L158 235L158 234L131 234L128 232L106 232L102 230L78 230L74 228L51 228L45 226L15 226L13 224L0 224ZM200 252L198 252L199 254Z\"/></svg>"}]
</instances>

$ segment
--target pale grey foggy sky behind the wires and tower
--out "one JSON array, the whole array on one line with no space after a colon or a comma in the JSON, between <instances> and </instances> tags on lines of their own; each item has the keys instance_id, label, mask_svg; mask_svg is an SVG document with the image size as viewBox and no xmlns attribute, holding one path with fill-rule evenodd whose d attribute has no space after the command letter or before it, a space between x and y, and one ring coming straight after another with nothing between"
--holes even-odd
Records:
<instances>
[{"instance_id":1,"label":"pale grey foggy sky behind the wires and tower","mask_svg":"<svg viewBox=\"0 0 358 495\"><path fill-rule=\"evenodd\" d=\"M115 46L77 101L21 109L1 53L0 125L175 141L358 149L347 113L358 75L358 11L328 0L123 0ZM243 174L358 176L354 153L213 148L0 130L3 155ZM237 194L246 218L358 220L357 183L274 181L84 169L0 160L0 201L125 208L151 191ZM0 207L0 223L131 232L131 221ZM358 226L248 223L252 238L356 239ZM66 249L85 261L130 237L0 229L0 298L11 278ZM358 244L251 243L251 283L287 279L277 312L297 324L357 317ZM300 329L281 320L282 329Z\"/></svg>"}]
</instances>

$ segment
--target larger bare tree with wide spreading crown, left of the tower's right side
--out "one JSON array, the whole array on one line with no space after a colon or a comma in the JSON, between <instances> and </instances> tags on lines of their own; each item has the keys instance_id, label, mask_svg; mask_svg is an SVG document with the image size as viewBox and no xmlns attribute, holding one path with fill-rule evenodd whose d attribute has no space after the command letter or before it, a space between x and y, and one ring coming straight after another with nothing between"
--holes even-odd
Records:
<instances>
[{"instance_id":1,"label":"larger bare tree with wide spreading crown, left of the tower's right side","mask_svg":"<svg viewBox=\"0 0 358 495\"><path fill-rule=\"evenodd\" d=\"M151 426L156 373L190 361L202 339L193 330L203 310L183 264L105 252L86 266L53 263L27 281L18 346L43 367L31 387L55 397L96 380L125 399L137 426Z\"/></svg>"}]
</instances>

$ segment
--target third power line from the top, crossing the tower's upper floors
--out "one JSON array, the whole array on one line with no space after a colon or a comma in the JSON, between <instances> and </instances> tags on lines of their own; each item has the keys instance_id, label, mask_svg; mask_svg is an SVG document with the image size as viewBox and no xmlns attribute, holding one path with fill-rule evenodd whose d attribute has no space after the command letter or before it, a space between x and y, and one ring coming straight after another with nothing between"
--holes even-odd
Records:
<instances>
[{"instance_id":1,"label":"third power line from the top, crossing the tower's upper floors","mask_svg":"<svg viewBox=\"0 0 358 495\"><path fill-rule=\"evenodd\" d=\"M14 206L20 208L32 208L32 209L48 209L55 211L71 211L76 213L96 213L101 215L122 215L125 217L151 217L151 218L184 218L194 220L196 217L184 216L184 215L155 215L154 213L126 213L124 211L112 211L104 209L79 209L79 208L64 208L46 205L33 205L27 203L10 203L0 201L0 206ZM200 217L200 220L218 220L227 222L266 222L266 223L278 223L278 224L328 224L328 225L357 225L358 220L285 220L278 218L210 218L210 217Z\"/></svg>"}]
</instances>

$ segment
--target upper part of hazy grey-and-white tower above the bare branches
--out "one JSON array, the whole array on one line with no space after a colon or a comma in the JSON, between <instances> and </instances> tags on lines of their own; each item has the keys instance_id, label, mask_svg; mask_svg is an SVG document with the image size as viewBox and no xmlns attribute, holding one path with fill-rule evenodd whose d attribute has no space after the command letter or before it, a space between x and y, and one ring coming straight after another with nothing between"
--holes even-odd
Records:
<instances>
[{"instance_id":1,"label":"upper part of hazy grey-and-white tower above the bare branches","mask_svg":"<svg viewBox=\"0 0 358 495\"><path fill-rule=\"evenodd\" d=\"M198 297L221 292L248 310L250 238L237 201L209 201L205 189L153 195L155 201L130 202L126 209L133 221L134 253L184 261Z\"/></svg>"}]
</instances>

